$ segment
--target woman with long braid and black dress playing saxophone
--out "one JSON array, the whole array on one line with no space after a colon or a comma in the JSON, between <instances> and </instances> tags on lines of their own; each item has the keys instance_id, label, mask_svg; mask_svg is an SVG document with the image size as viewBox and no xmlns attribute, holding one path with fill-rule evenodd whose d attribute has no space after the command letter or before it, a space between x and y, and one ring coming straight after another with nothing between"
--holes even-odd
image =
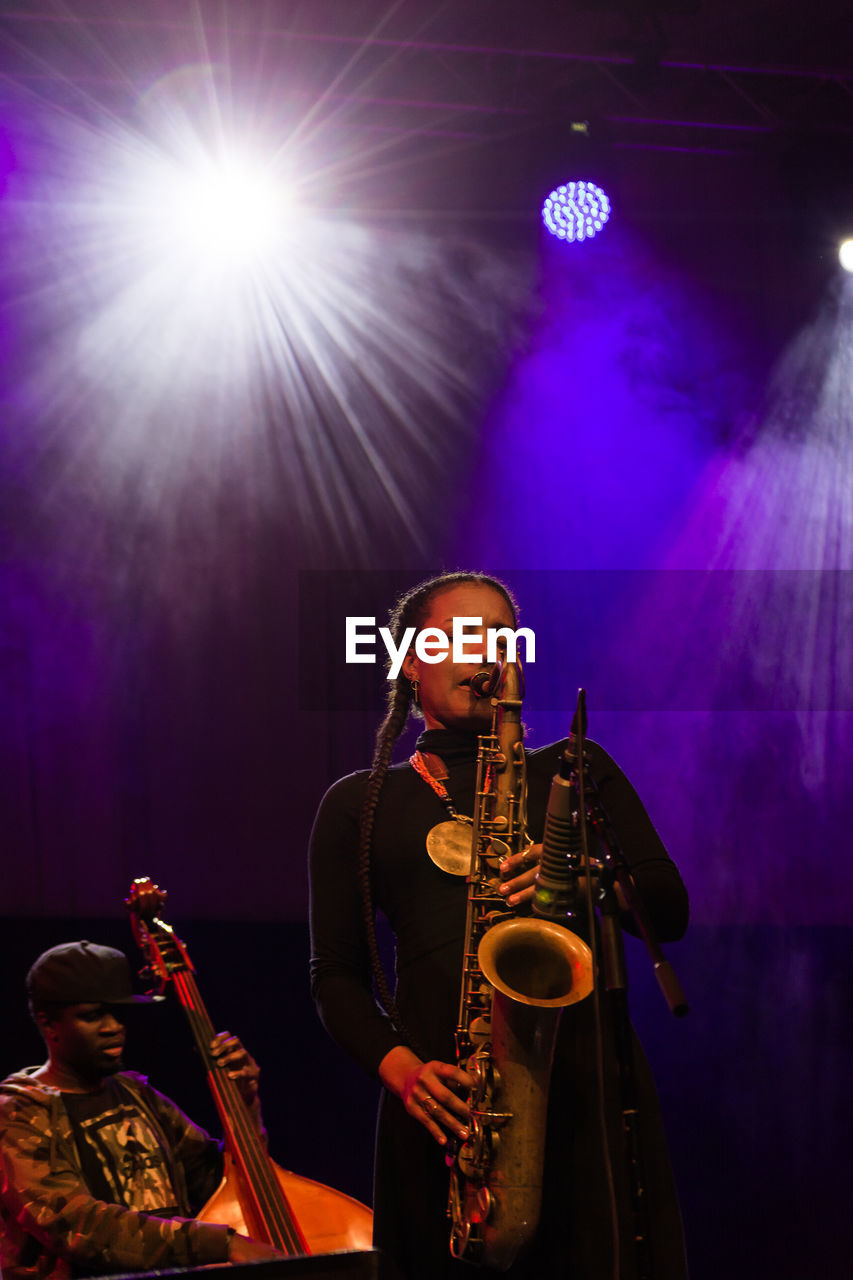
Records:
<instances>
[{"instance_id":1,"label":"woman with long braid and black dress playing saxophone","mask_svg":"<svg viewBox=\"0 0 853 1280\"><path fill-rule=\"evenodd\" d=\"M457 617L480 618L484 632L517 625L515 602L501 582L456 573L403 596L389 628L400 644L407 627L450 635ZM489 698L471 690L485 649L475 657L479 660L460 666L452 655L428 663L414 648L406 654L391 685L373 769L330 787L311 840L314 996L327 1029L384 1085L374 1179L375 1243L407 1280L491 1274L512 1280L613 1275L634 1280L613 1052L605 1020L602 1124L592 998L567 1007L560 1021L535 1239L503 1272L459 1261L448 1248L444 1157L471 1130L471 1076L457 1064L453 1041L467 901L465 863L475 813L478 740L489 733L492 722ZM393 745L410 714L424 719L425 731L411 759L392 764ZM529 910L538 841L562 745L524 750L533 844L511 851L500 864L497 893L507 910ZM675 940L686 924L679 873L628 780L594 744L589 744L589 756L598 794L656 929L662 940ZM377 910L384 913L396 938L393 993L378 964ZM374 998L374 983L383 1007ZM639 1048L635 1056L654 1276L683 1280L678 1201L654 1088ZM615 1239L622 1247L615 1247Z\"/></svg>"}]
</instances>

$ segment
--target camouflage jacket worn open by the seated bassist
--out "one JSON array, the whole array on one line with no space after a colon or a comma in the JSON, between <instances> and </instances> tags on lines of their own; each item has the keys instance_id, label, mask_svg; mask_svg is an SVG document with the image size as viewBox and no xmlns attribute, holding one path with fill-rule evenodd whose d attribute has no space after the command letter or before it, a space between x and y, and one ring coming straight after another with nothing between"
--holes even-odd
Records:
<instances>
[{"instance_id":1,"label":"camouflage jacket worn open by the seated bassist","mask_svg":"<svg viewBox=\"0 0 853 1280\"><path fill-rule=\"evenodd\" d=\"M4 1280L67 1280L224 1262L225 1226L192 1221L188 1178L201 1171L210 1196L222 1175L219 1148L145 1076L113 1076L120 1097L138 1107L165 1156L186 1217L158 1217L97 1199L81 1165L58 1089L27 1068L0 1083L0 1272ZM206 1197L205 1197L206 1198Z\"/></svg>"}]
</instances>

